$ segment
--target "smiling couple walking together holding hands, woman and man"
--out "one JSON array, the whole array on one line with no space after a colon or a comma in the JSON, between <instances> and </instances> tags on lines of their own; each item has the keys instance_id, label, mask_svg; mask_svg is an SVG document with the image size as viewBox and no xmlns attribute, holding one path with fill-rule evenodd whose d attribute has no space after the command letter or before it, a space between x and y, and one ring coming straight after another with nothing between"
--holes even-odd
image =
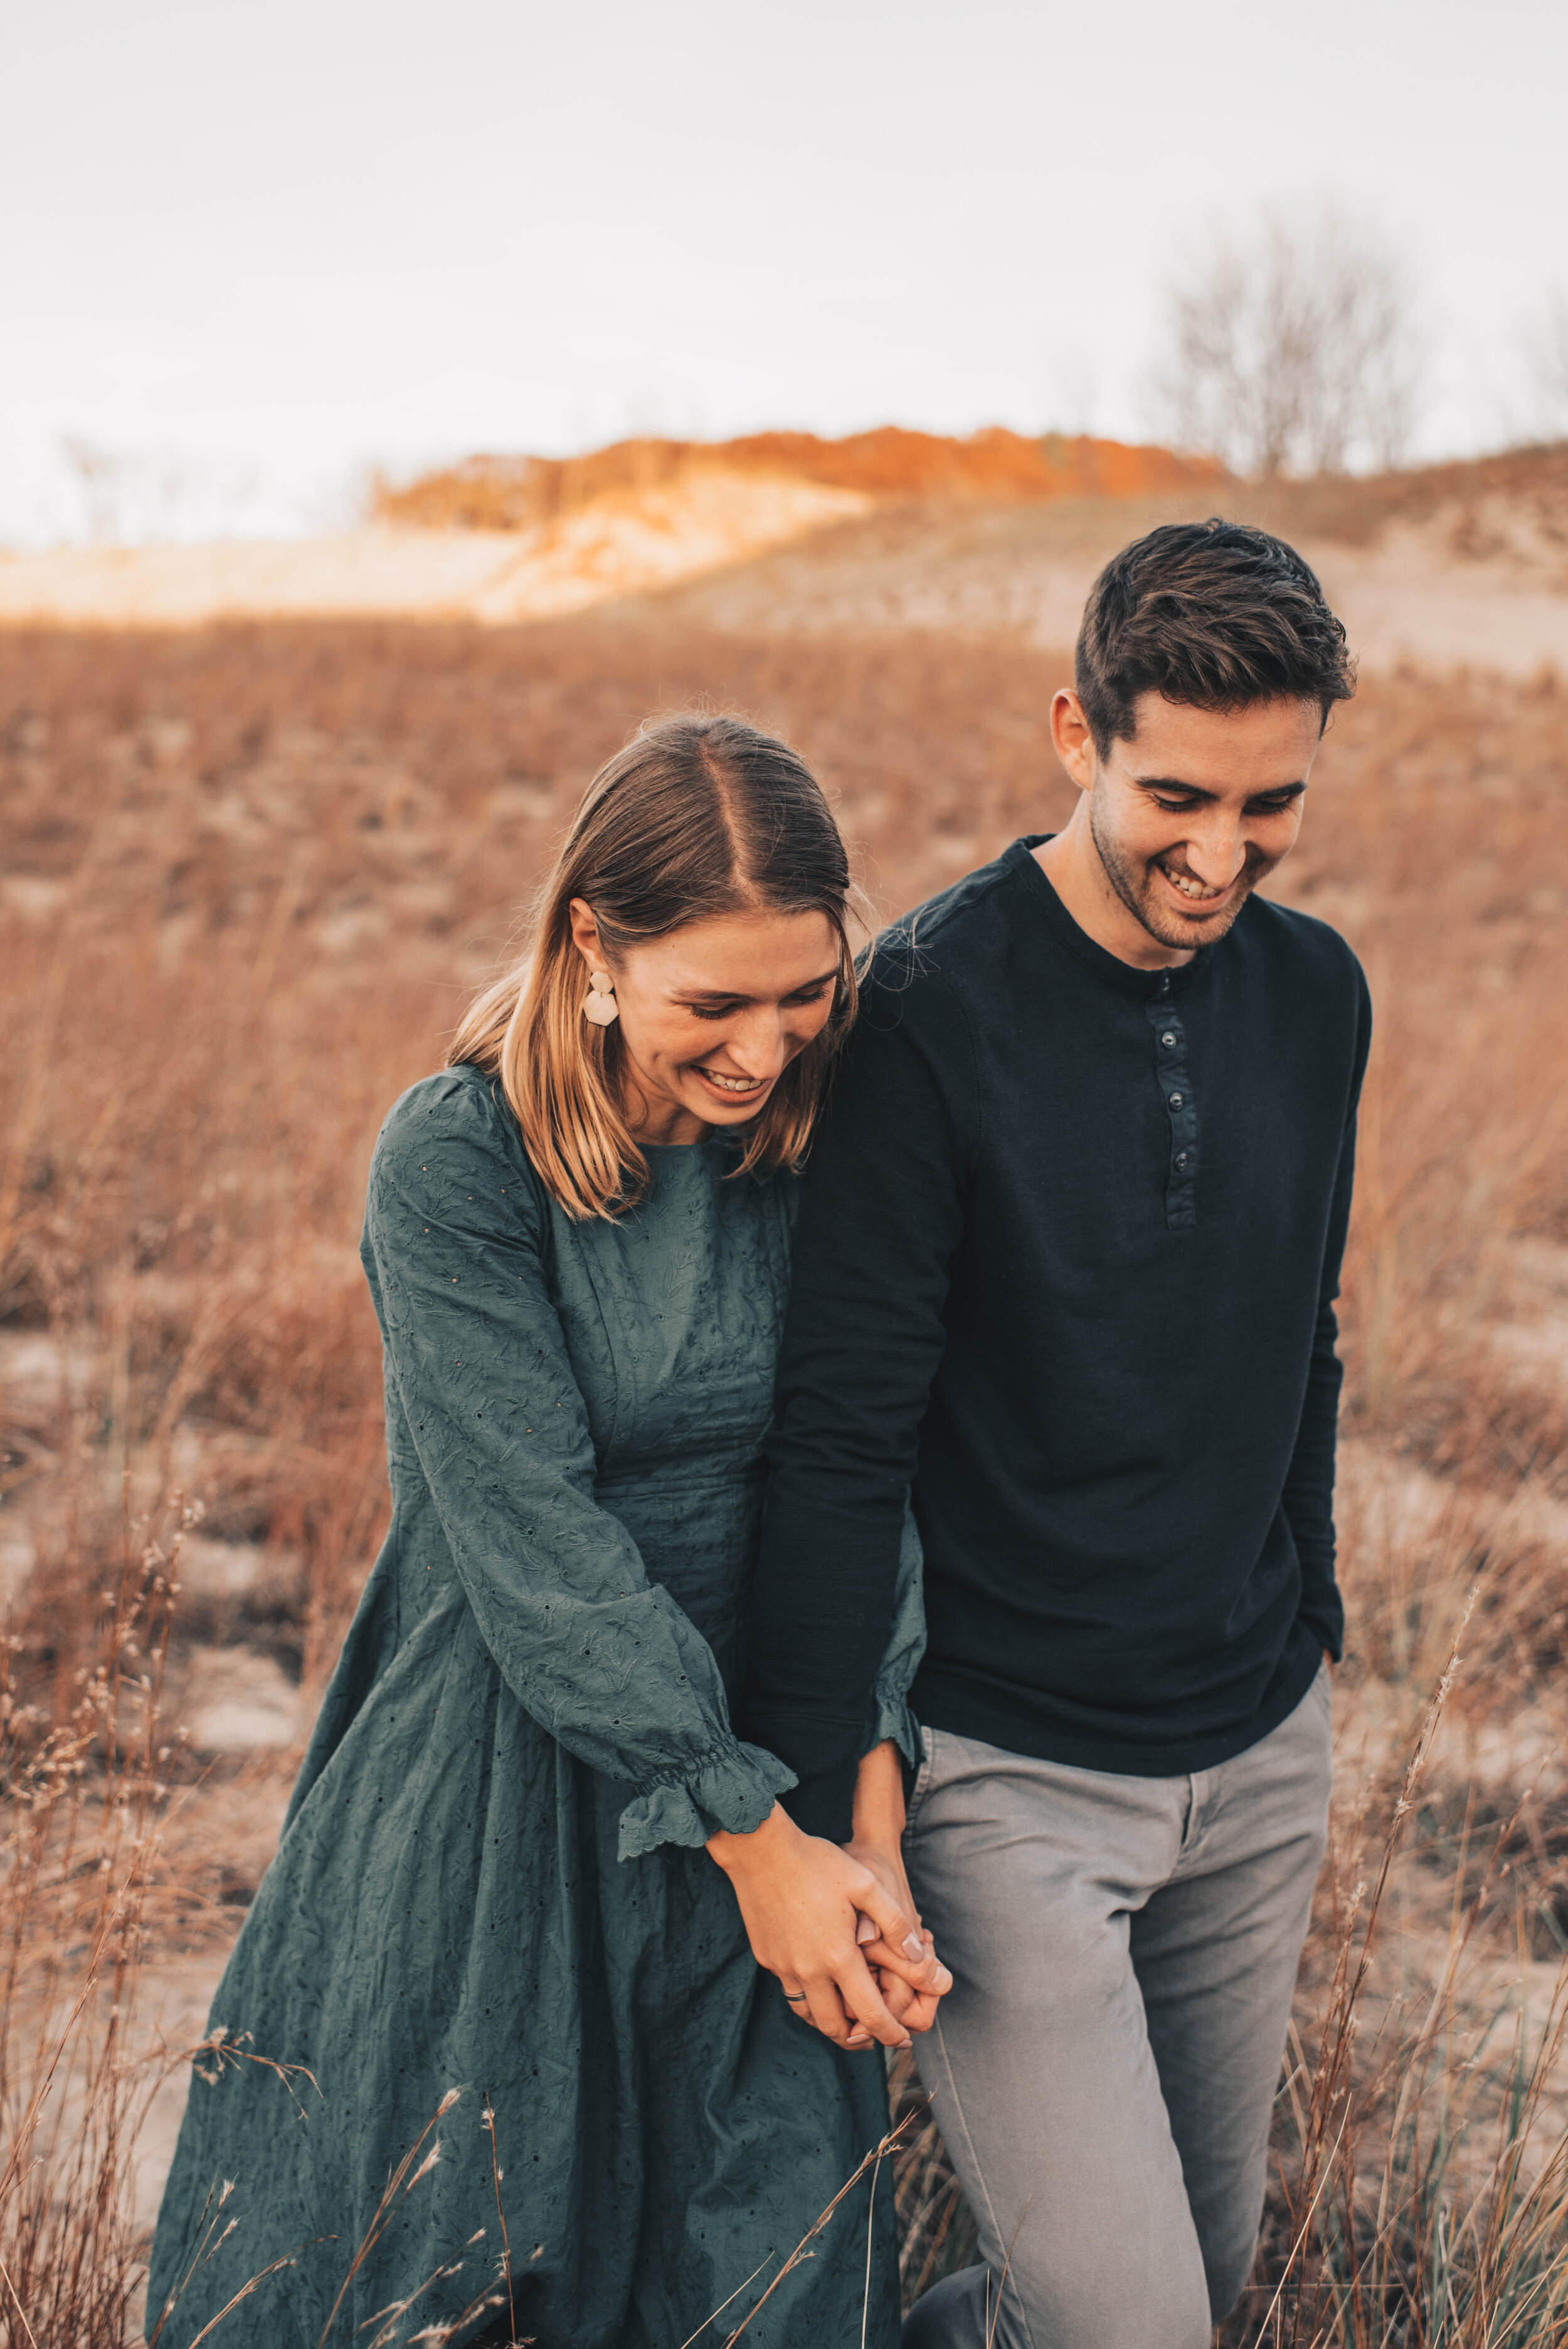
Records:
<instances>
[{"instance_id":1,"label":"smiling couple walking together holding hands, woman and man","mask_svg":"<svg viewBox=\"0 0 1568 2349\"><path fill-rule=\"evenodd\" d=\"M1204 2349L1324 1849L1368 1045L1253 890L1350 691L1291 547L1153 531L1073 820L859 965L786 745L594 780L376 1146L392 1527L214 2006L310 2081L192 2081L164 2349ZM883 2166L770 2290L911 2034L976 2264L899 2316Z\"/></svg>"}]
</instances>

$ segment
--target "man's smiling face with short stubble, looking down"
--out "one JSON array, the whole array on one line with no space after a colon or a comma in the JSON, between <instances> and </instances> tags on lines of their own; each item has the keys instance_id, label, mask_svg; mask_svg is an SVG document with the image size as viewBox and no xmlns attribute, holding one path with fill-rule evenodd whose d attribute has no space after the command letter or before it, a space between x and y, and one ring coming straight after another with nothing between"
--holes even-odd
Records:
<instances>
[{"instance_id":1,"label":"man's smiling face with short stubble, looking down","mask_svg":"<svg viewBox=\"0 0 1568 2349\"><path fill-rule=\"evenodd\" d=\"M1077 695L1056 700L1077 716L1073 726L1073 712L1061 712L1059 749L1089 794L1089 832L1122 907L1157 947L1211 947L1296 846L1322 735L1317 702L1225 712L1141 693L1134 735L1101 759Z\"/></svg>"}]
</instances>

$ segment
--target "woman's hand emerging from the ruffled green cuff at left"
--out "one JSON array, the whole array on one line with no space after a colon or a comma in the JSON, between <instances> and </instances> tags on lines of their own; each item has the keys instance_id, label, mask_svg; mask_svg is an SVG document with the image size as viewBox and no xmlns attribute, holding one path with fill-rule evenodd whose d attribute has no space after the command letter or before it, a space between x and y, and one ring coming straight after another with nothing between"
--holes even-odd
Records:
<instances>
[{"instance_id":1,"label":"woman's hand emerging from the ruffled green cuff at left","mask_svg":"<svg viewBox=\"0 0 1568 2349\"><path fill-rule=\"evenodd\" d=\"M859 1919L878 1936L869 1947L883 1976L918 1990L932 1959L878 1870L805 1835L779 1804L753 1835L714 1835L707 1849L735 1886L751 1954L777 1973L796 2013L843 2048L908 2046L854 1938Z\"/></svg>"}]
</instances>

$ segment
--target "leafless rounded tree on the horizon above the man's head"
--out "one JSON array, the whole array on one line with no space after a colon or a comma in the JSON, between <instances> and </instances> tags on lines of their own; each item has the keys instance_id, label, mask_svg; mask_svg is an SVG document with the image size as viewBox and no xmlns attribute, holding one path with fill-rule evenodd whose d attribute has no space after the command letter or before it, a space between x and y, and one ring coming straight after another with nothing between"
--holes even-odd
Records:
<instances>
[{"instance_id":1,"label":"leafless rounded tree on the horizon above the man's head","mask_svg":"<svg viewBox=\"0 0 1568 2349\"><path fill-rule=\"evenodd\" d=\"M1408 265L1340 204L1218 230L1171 287L1162 404L1181 442L1237 472L1397 465L1418 373Z\"/></svg>"}]
</instances>

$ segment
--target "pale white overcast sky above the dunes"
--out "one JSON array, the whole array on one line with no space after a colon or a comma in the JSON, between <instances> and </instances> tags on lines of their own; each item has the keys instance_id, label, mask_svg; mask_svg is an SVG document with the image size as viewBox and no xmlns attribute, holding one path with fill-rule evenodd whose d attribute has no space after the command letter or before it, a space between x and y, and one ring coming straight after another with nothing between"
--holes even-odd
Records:
<instances>
[{"instance_id":1,"label":"pale white overcast sky above the dunes","mask_svg":"<svg viewBox=\"0 0 1568 2349\"><path fill-rule=\"evenodd\" d=\"M1566 87L1561 0L16 0L0 545L94 465L101 526L272 536L477 449L1148 437L1183 256L1322 195L1408 256L1418 453L1498 446Z\"/></svg>"}]
</instances>

